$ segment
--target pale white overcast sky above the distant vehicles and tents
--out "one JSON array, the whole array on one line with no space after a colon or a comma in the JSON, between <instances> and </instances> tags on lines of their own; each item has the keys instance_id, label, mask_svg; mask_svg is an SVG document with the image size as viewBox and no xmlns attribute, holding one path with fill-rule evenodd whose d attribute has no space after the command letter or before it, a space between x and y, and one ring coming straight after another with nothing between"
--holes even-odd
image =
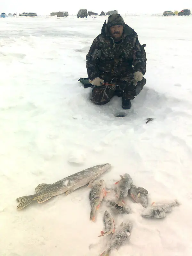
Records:
<instances>
[{"instance_id":1,"label":"pale white overcast sky above the distant vehicles and tents","mask_svg":"<svg viewBox=\"0 0 192 256\"><path fill-rule=\"evenodd\" d=\"M128 13L162 13L164 11L175 10L181 11L183 9L191 9L192 0L121 0L121 1L103 1L103 0L0 0L0 13L8 14L22 12L36 12L37 15L50 15L50 12L67 11L69 15L76 15L79 9L87 9L87 11L108 12L110 10L117 10L118 13L124 15Z\"/></svg>"}]
</instances>

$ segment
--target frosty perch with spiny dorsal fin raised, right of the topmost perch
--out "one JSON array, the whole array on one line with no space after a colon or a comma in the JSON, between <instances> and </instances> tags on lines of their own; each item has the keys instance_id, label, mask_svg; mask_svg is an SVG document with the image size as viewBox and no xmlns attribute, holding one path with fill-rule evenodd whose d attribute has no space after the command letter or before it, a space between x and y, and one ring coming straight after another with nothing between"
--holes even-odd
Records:
<instances>
[{"instance_id":1,"label":"frosty perch with spiny dorsal fin raised, right of the topmost perch","mask_svg":"<svg viewBox=\"0 0 192 256\"><path fill-rule=\"evenodd\" d=\"M148 191L145 188L137 188L135 185L132 184L128 193L136 203L142 204L143 207L147 207Z\"/></svg>"}]
</instances>

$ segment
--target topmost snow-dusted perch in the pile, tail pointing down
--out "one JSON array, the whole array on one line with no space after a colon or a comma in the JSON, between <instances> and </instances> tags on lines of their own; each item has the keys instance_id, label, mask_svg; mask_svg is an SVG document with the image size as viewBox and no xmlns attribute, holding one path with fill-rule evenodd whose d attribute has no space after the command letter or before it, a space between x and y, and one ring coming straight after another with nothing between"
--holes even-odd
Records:
<instances>
[{"instance_id":1,"label":"topmost snow-dusted perch in the pile, tail pointing down","mask_svg":"<svg viewBox=\"0 0 192 256\"><path fill-rule=\"evenodd\" d=\"M123 199L125 196L128 195L128 190L131 188L132 185L132 178L128 173L125 173L123 176L120 175L121 180L117 181L115 184L117 184L117 201L116 204L118 206L123 206Z\"/></svg>"}]
</instances>

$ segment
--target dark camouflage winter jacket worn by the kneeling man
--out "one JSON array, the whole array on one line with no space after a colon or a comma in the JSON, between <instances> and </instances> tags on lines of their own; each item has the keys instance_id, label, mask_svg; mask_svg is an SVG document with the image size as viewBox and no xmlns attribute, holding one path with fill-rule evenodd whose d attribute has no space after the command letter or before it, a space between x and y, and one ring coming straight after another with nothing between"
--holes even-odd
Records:
<instances>
[{"instance_id":1,"label":"dark camouflage winter jacket worn by the kneeling man","mask_svg":"<svg viewBox=\"0 0 192 256\"><path fill-rule=\"evenodd\" d=\"M140 45L137 33L124 25L121 45L117 52L115 42L107 29L106 21L86 56L87 74L91 80L100 77L105 81L130 81L134 72L146 72L146 52Z\"/></svg>"}]
</instances>

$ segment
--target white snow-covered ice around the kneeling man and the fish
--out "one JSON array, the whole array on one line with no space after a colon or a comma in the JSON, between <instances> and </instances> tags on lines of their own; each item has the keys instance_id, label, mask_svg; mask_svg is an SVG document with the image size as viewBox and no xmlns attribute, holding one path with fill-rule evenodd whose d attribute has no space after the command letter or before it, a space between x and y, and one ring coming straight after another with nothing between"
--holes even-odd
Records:
<instances>
[{"instance_id":1,"label":"white snow-covered ice around the kneeling man and the fish","mask_svg":"<svg viewBox=\"0 0 192 256\"><path fill-rule=\"evenodd\" d=\"M147 83L126 111L117 97L93 105L91 89L77 81L87 77L86 54L105 17L0 19L0 255L103 252L106 207L89 220L89 188L21 211L15 201L39 183L103 163L112 165L102 176L108 187L128 172L149 204L181 203L164 220L149 220L128 199L132 214L115 220L131 220L131 236L111 256L192 254L192 15L124 19L147 44Z\"/></svg>"}]
</instances>

